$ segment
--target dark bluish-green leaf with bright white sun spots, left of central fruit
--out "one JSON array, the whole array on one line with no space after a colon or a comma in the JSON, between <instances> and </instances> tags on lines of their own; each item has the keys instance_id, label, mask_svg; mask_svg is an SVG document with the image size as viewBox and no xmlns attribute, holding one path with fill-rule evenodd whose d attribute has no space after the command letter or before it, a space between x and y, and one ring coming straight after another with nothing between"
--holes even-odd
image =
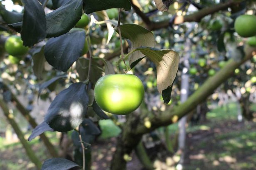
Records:
<instances>
[{"instance_id":1,"label":"dark bluish-green leaf with bright white sun spots, left of central fruit","mask_svg":"<svg viewBox=\"0 0 256 170\"><path fill-rule=\"evenodd\" d=\"M89 99L84 83L74 83L52 101L45 121L55 131L75 129L85 118Z\"/></svg>"}]
</instances>

